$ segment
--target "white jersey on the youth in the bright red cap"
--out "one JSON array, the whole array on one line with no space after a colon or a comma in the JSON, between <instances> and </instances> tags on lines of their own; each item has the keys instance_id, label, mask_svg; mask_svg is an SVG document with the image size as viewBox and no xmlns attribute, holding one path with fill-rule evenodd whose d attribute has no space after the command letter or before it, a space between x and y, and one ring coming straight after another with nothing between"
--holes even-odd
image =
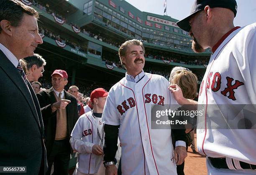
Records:
<instances>
[{"instance_id":1,"label":"white jersey on the youth in the bright red cap","mask_svg":"<svg viewBox=\"0 0 256 175\"><path fill-rule=\"evenodd\" d=\"M102 164L102 155L92 153L93 145L104 145L103 123L100 120L89 111L79 117L71 133L70 144L78 152L76 167L84 174L97 173Z\"/></svg>"}]
</instances>

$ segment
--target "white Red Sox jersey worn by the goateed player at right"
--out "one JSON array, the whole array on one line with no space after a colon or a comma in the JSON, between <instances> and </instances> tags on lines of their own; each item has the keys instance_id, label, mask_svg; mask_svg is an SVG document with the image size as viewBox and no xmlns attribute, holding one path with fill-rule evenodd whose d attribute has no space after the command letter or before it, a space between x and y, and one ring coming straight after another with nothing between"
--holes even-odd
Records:
<instances>
[{"instance_id":1,"label":"white Red Sox jersey worn by the goateed player at right","mask_svg":"<svg viewBox=\"0 0 256 175\"><path fill-rule=\"evenodd\" d=\"M223 116L234 113L227 108L212 109L211 104L256 104L256 23L234 30L211 55L198 104L203 104L204 110L203 117L197 119L199 152L213 158L233 158L236 169L241 168L237 160L256 165L255 128L215 129L209 120L217 112ZM228 167L233 169L232 162Z\"/></svg>"}]
</instances>

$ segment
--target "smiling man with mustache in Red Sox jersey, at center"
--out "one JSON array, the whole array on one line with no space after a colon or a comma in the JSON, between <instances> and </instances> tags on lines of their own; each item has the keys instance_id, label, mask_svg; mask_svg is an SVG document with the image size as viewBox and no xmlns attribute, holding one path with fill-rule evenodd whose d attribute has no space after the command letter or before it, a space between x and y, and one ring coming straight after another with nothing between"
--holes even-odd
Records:
<instances>
[{"instance_id":1,"label":"smiling man with mustache in Red Sox jersey, at center","mask_svg":"<svg viewBox=\"0 0 256 175\"><path fill-rule=\"evenodd\" d=\"M102 114L106 175L117 175L114 158L118 137L123 175L177 175L175 163L180 165L187 156L185 138L178 140L173 150L170 129L151 129L151 105L168 106L176 100L165 77L143 71L144 53L139 40L126 41L119 48L127 72L111 87Z\"/></svg>"}]
</instances>

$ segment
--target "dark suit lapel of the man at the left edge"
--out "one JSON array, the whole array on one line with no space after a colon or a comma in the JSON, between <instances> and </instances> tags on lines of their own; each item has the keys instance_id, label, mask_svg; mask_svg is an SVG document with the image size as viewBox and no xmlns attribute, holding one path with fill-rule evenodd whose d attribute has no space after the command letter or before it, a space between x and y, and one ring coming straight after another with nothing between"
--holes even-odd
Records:
<instances>
[{"instance_id":1,"label":"dark suit lapel of the man at the left edge","mask_svg":"<svg viewBox=\"0 0 256 175\"><path fill-rule=\"evenodd\" d=\"M28 105L31 108L31 111L33 113L33 116L38 124L38 127L40 128L36 107L31 97L31 93L28 90L28 87L30 87L30 90L32 91L33 91L33 88L29 83L27 87L26 83L24 82L23 78L21 77L16 67L10 62L10 60L5 56L5 54L1 50L0 50L0 67L2 67L3 71L8 75L8 77L10 77L10 80L13 81L13 84L18 87L20 92L23 94L23 96L27 100Z\"/></svg>"}]
</instances>

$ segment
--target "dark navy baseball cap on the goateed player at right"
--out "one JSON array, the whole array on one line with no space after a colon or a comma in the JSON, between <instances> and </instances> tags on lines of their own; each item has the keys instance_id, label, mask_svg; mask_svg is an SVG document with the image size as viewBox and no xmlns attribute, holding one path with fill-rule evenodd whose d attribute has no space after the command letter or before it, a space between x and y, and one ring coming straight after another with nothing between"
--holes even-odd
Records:
<instances>
[{"instance_id":1,"label":"dark navy baseball cap on the goateed player at right","mask_svg":"<svg viewBox=\"0 0 256 175\"><path fill-rule=\"evenodd\" d=\"M236 17L237 13L237 4L236 0L195 0L192 8L190 15L183 20L180 20L177 22L177 25L179 28L182 30L185 30L189 32L190 30L190 25L189 25L189 19L191 18L192 15L195 13L199 12L200 10L204 10L205 6L209 5L211 8L213 7L223 7L223 8L228 8L233 11Z\"/></svg>"}]
</instances>

